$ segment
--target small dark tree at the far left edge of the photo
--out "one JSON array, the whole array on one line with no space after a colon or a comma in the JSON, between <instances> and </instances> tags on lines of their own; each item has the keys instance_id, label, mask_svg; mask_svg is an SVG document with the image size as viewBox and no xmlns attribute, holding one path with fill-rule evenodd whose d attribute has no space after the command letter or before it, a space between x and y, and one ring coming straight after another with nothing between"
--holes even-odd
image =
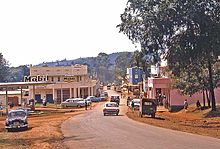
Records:
<instances>
[{"instance_id":1,"label":"small dark tree at the far left edge of the photo","mask_svg":"<svg viewBox=\"0 0 220 149\"><path fill-rule=\"evenodd\" d=\"M0 82L7 81L8 67L8 61L3 57L2 53L0 53Z\"/></svg>"}]
</instances>

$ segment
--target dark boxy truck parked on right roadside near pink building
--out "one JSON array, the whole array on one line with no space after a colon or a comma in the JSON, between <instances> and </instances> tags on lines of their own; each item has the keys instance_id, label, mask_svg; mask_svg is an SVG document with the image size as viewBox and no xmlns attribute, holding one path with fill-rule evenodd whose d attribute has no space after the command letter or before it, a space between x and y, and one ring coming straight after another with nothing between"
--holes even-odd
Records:
<instances>
[{"instance_id":1,"label":"dark boxy truck parked on right roadside near pink building","mask_svg":"<svg viewBox=\"0 0 220 149\"><path fill-rule=\"evenodd\" d=\"M140 102L139 108L139 116L142 117L143 115L151 115L151 117L155 117L157 112L157 100L156 99L149 99L149 98L142 98Z\"/></svg>"}]
</instances>

